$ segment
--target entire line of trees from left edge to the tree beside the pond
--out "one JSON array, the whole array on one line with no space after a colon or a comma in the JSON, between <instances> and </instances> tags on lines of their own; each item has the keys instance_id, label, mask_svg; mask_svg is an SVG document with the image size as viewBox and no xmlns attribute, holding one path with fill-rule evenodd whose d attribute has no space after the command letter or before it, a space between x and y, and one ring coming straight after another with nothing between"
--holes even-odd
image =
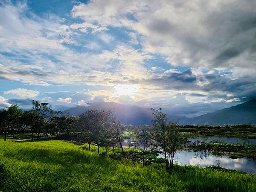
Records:
<instances>
[{"instance_id":1,"label":"entire line of trees from left edge to the tree beside the pond","mask_svg":"<svg viewBox=\"0 0 256 192\"><path fill-rule=\"evenodd\" d=\"M151 147L163 151L165 157L166 171L173 167L174 154L180 148L180 137L175 123L167 123L166 114L158 110L152 111L154 120L152 126L139 126L134 130L136 141L134 146L142 152L142 163L144 165L145 153ZM122 155L125 151L122 146L123 131L125 126L117 119L112 110L89 110L80 116L68 116L61 111L53 111L48 103L32 101L30 111L22 111L17 105L10 106L7 110L0 111L0 129L4 132L6 141L7 133L15 137L15 130L30 130L33 141L34 134L37 139L42 136L49 137L61 134L72 135L83 143L105 148L105 154L109 149L121 148Z\"/></svg>"}]
</instances>

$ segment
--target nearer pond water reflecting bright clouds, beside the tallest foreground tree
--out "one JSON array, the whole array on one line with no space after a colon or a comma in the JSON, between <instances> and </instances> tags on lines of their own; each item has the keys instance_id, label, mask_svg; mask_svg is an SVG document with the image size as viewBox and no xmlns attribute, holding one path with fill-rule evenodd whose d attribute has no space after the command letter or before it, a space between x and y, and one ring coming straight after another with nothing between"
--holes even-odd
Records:
<instances>
[{"instance_id":1,"label":"nearer pond water reflecting bright clouds, beside the tallest foreground tree","mask_svg":"<svg viewBox=\"0 0 256 192\"><path fill-rule=\"evenodd\" d=\"M158 157L163 157L159 154ZM217 165L217 157L211 154L199 154L193 151L179 151L175 154L175 162L179 165L192 165L192 166L211 166ZM256 160L252 158L238 158L231 159L227 156L220 158L221 166L223 168L235 169L237 171L244 171L247 173L256 173Z\"/></svg>"}]
</instances>

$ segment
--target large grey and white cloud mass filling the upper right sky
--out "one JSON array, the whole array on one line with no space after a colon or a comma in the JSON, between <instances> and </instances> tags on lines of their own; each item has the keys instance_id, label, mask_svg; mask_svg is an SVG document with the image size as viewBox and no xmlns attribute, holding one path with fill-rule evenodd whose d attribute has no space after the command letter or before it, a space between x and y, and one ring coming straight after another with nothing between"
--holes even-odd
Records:
<instances>
[{"instance_id":1,"label":"large grey and white cloud mass filling the upper right sky","mask_svg":"<svg viewBox=\"0 0 256 192\"><path fill-rule=\"evenodd\" d=\"M99 26L133 29L142 35L145 50L165 55L173 66L249 71L255 64L247 62L255 53L255 6L250 0L95 0L74 6L72 15Z\"/></svg>"}]
</instances>

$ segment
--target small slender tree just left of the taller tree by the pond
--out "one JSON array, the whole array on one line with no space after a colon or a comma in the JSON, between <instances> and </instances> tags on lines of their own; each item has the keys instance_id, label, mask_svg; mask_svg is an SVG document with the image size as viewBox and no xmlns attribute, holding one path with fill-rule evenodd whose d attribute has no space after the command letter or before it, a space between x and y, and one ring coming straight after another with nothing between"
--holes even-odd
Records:
<instances>
[{"instance_id":1,"label":"small slender tree just left of the taller tree by the pond","mask_svg":"<svg viewBox=\"0 0 256 192\"><path fill-rule=\"evenodd\" d=\"M137 141L133 145L142 152L143 166L145 164L145 151L147 151L153 143L152 133L152 128L146 125L142 125L134 130Z\"/></svg>"}]
</instances>

